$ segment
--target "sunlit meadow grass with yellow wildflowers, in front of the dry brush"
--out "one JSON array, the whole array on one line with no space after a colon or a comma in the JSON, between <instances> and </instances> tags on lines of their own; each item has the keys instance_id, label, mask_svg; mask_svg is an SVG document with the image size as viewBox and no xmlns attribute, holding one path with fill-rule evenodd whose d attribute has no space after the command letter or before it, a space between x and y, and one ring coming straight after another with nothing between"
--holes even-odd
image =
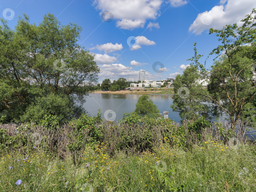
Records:
<instances>
[{"instance_id":1,"label":"sunlit meadow grass with yellow wildflowers, in front of the dry brush","mask_svg":"<svg viewBox=\"0 0 256 192\"><path fill-rule=\"evenodd\" d=\"M95 144L85 148L79 165L52 158L39 148L2 154L0 187L1 191L81 191L83 186L84 191L91 186L93 191L169 191L174 186L185 191L255 191L255 146L232 150L214 143L187 152L163 144L153 152L116 153L112 158L104 152L106 146ZM239 178L243 167L248 173ZM21 184L16 185L19 179Z\"/></svg>"}]
</instances>

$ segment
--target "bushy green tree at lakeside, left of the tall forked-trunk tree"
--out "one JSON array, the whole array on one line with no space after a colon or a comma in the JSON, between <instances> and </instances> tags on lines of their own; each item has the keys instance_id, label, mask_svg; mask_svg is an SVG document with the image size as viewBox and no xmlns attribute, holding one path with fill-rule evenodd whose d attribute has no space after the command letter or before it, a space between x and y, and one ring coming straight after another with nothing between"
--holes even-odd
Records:
<instances>
[{"instance_id":1,"label":"bushy green tree at lakeside, left of the tall forked-trunk tree","mask_svg":"<svg viewBox=\"0 0 256 192\"><path fill-rule=\"evenodd\" d=\"M179 112L181 119L196 120L201 115L210 118L211 108L209 103L205 103L209 99L201 96L207 94L207 90L203 88L199 79L197 68L191 65L182 75L177 75L173 82L173 104L170 107L173 111Z\"/></svg>"}]
</instances>

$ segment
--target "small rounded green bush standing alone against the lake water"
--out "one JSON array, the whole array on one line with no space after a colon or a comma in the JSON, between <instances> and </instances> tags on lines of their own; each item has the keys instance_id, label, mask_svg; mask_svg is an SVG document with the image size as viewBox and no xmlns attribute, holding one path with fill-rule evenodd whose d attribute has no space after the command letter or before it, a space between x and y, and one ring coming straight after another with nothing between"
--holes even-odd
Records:
<instances>
[{"instance_id":1,"label":"small rounded green bush standing alone against the lake water","mask_svg":"<svg viewBox=\"0 0 256 192\"><path fill-rule=\"evenodd\" d=\"M159 110L157 106L149 99L148 95L142 95L139 97L136 108L134 110L139 115L148 116L148 117L158 117Z\"/></svg>"}]
</instances>

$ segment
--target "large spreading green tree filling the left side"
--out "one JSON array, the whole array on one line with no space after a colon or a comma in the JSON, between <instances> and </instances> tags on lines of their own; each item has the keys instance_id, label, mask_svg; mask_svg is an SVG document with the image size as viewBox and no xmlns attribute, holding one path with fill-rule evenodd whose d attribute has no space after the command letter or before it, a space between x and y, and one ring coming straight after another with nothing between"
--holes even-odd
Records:
<instances>
[{"instance_id":1,"label":"large spreading green tree filling the left side","mask_svg":"<svg viewBox=\"0 0 256 192\"><path fill-rule=\"evenodd\" d=\"M100 72L94 55L76 43L82 28L73 23L61 25L49 13L38 26L30 24L26 14L19 18L15 30L3 19L1 22L0 113L7 115L8 121L19 120L23 115L29 117L25 114L28 107L40 105L36 98L49 98L52 94L71 103L69 112L63 113L66 120L72 110L81 112L85 100L79 87L97 82Z\"/></svg>"}]
</instances>

